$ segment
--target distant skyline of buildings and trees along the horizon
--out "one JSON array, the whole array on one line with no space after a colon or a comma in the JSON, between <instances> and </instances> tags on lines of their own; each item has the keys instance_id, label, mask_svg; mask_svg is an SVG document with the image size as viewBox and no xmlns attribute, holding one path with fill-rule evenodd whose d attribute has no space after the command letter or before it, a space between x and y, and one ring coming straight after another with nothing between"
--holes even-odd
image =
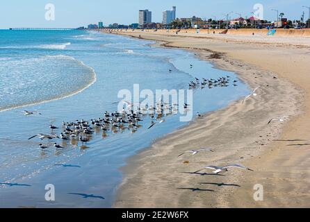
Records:
<instances>
[{"instance_id":1,"label":"distant skyline of buildings and trees along the horizon","mask_svg":"<svg viewBox=\"0 0 310 222\"><path fill-rule=\"evenodd\" d=\"M172 6L172 10L163 11L163 17L161 23L152 22L152 11L150 10L139 10L138 23L129 25L125 24L109 24L104 26L103 22L98 24L89 24L88 29L102 29L102 28L131 28L131 29L170 29L170 28L310 28L310 19L308 21L301 20L289 20L284 18L284 13L280 14L280 17L275 22L258 19L252 17L237 17L235 19L202 19L200 17L189 17L189 18L177 18L177 7ZM79 27L77 29L85 29Z\"/></svg>"}]
</instances>

